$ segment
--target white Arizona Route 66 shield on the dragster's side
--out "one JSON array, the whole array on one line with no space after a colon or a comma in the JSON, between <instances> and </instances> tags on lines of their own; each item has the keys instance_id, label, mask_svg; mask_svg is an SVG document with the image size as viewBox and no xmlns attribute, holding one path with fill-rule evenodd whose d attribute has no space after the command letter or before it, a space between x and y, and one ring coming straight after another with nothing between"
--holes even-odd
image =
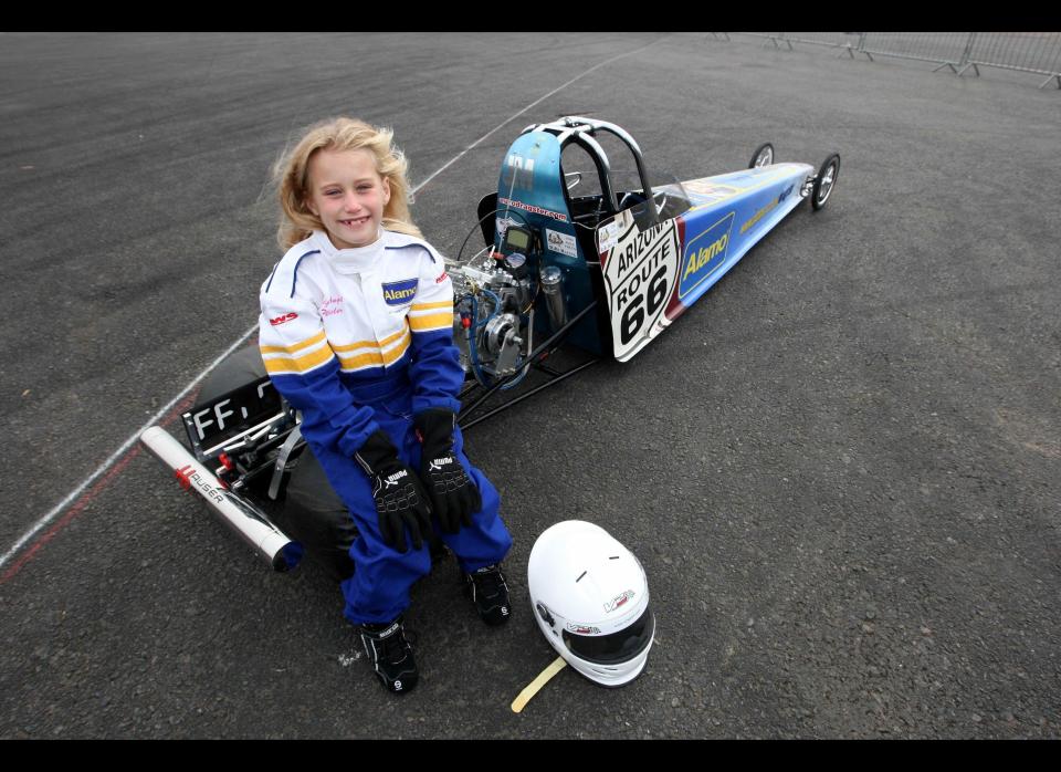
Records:
<instances>
[{"instance_id":1,"label":"white Arizona Route 66 shield on the dragster's side","mask_svg":"<svg viewBox=\"0 0 1061 772\"><path fill-rule=\"evenodd\" d=\"M621 234L601 257L614 355L626 362L669 323L663 312L677 280L681 246L676 220L642 231L628 210L616 222Z\"/></svg>"}]
</instances>

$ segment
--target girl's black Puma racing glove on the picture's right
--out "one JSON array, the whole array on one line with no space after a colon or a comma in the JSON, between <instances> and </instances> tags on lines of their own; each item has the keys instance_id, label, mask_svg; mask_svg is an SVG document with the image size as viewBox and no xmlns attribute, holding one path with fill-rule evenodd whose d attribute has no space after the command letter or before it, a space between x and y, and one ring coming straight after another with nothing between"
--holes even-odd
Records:
<instances>
[{"instance_id":1,"label":"girl's black Puma racing glove on the picture's right","mask_svg":"<svg viewBox=\"0 0 1061 772\"><path fill-rule=\"evenodd\" d=\"M462 524L471 525L472 513L483 507L479 489L453 452L456 418L451 410L433 408L417 415L414 424L423 444L420 478L442 530L456 533Z\"/></svg>"}]
</instances>

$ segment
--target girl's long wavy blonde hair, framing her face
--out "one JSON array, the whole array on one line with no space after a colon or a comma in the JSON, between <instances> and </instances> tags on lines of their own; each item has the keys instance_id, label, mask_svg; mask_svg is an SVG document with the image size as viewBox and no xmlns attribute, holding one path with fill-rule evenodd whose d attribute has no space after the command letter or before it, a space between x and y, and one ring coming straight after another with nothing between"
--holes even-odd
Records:
<instances>
[{"instance_id":1,"label":"girl's long wavy blonde hair, framing her face","mask_svg":"<svg viewBox=\"0 0 1061 772\"><path fill-rule=\"evenodd\" d=\"M273 178L280 194L280 230L276 240L284 251L307 239L314 230L324 230L321 218L307 206L309 198L309 159L317 150L366 149L376 159L376 171L390 185L390 200L384 208L382 226L387 230L422 238L409 213L409 161L392 144L393 132L371 126L355 118L329 118L312 126L306 135L281 156L273 166Z\"/></svg>"}]
</instances>

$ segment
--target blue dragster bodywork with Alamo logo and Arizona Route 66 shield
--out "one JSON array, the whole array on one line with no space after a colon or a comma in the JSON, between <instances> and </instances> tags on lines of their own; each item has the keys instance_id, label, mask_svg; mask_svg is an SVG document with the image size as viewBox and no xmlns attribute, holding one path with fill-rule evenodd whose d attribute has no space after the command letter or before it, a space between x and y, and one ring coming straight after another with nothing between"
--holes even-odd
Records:
<instances>
[{"instance_id":1,"label":"blue dragster bodywork with Alamo logo and Arizona Route 66 shield","mask_svg":"<svg viewBox=\"0 0 1061 772\"><path fill-rule=\"evenodd\" d=\"M559 268L569 309L595 301L602 306L570 331L571 343L620 362L700 300L795 209L816 174L807 164L773 164L653 186L659 218L641 191L616 191L617 200L633 196L633 202L593 199L606 212L620 211L587 225L587 212L572 210L561 164L565 142L570 142L567 127L575 124L550 124L553 133L539 126L526 129L505 154L494 247L510 225L527 227L540 246L530 270L540 275L547 267ZM600 157L602 176L607 166ZM535 327L553 332L544 315L536 317Z\"/></svg>"}]
</instances>

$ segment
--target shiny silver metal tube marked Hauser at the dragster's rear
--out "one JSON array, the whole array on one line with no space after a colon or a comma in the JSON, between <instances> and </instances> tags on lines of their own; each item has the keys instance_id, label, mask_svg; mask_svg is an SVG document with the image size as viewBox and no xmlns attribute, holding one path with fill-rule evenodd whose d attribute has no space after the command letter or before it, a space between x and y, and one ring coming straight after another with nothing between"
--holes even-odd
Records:
<instances>
[{"instance_id":1,"label":"shiny silver metal tube marked Hauser at the dragster's rear","mask_svg":"<svg viewBox=\"0 0 1061 772\"><path fill-rule=\"evenodd\" d=\"M168 431L153 426L140 435L140 442L176 474L181 488L201 495L210 509L273 568L290 571L298 565L302 544L284 535L258 507L228 490Z\"/></svg>"}]
</instances>

